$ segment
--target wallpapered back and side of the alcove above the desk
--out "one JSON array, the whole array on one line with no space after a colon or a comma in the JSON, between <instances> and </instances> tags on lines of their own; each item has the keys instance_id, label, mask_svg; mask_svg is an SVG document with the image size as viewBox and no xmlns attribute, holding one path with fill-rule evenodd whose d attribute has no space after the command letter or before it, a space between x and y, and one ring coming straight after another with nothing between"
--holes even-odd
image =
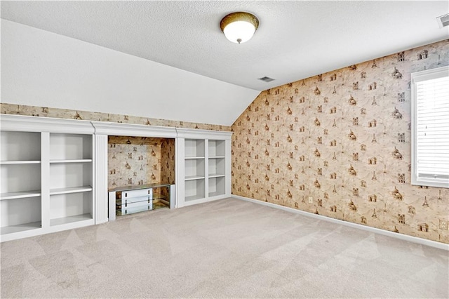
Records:
<instances>
[{"instance_id":1,"label":"wallpapered back and side of the alcove above the desk","mask_svg":"<svg viewBox=\"0 0 449 299\"><path fill-rule=\"evenodd\" d=\"M108 188L175 183L175 140L108 137Z\"/></svg>"}]
</instances>

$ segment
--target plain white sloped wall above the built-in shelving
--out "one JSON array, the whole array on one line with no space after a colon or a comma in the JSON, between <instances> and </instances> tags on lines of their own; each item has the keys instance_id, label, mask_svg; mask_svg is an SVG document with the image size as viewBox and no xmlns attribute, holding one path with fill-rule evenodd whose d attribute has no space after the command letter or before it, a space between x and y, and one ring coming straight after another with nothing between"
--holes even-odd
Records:
<instances>
[{"instance_id":1,"label":"plain white sloped wall above the built-in shelving","mask_svg":"<svg viewBox=\"0 0 449 299\"><path fill-rule=\"evenodd\" d=\"M230 126L259 93L1 20L4 103Z\"/></svg>"}]
</instances>

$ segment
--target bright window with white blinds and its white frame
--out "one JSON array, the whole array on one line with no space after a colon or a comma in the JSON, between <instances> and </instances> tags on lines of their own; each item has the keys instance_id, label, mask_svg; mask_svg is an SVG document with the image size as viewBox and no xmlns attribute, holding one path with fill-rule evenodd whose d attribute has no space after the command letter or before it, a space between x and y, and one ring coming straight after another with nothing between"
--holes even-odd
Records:
<instances>
[{"instance_id":1,"label":"bright window with white blinds and its white frame","mask_svg":"<svg viewBox=\"0 0 449 299\"><path fill-rule=\"evenodd\" d=\"M449 67L411 74L412 184L449 188Z\"/></svg>"}]
</instances>

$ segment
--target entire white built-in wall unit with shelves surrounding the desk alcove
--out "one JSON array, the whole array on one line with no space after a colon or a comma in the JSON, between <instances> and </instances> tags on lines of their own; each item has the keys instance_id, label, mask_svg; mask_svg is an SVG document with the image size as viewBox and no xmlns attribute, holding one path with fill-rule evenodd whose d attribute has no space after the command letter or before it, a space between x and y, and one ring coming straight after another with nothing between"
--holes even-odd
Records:
<instances>
[{"instance_id":1,"label":"entire white built-in wall unit with shelves surrounding the desk alcove","mask_svg":"<svg viewBox=\"0 0 449 299\"><path fill-rule=\"evenodd\" d=\"M231 132L7 114L0 125L0 241L107 222L117 207L133 212L128 204L180 208L231 195ZM145 200L131 192L138 199L123 210L108 197L108 135L173 138L175 185L128 186L146 188Z\"/></svg>"}]
</instances>

